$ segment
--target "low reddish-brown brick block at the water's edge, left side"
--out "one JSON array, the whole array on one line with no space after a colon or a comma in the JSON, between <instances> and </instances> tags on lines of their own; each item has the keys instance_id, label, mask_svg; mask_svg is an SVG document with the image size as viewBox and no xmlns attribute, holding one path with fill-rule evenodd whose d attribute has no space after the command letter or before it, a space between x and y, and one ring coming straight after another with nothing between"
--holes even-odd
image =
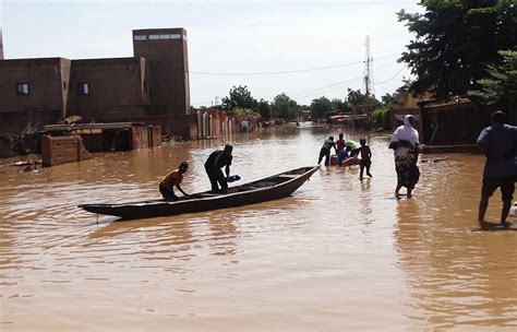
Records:
<instances>
[{"instance_id":1,"label":"low reddish-brown brick block at the water's edge, left side","mask_svg":"<svg viewBox=\"0 0 517 332\"><path fill-rule=\"evenodd\" d=\"M81 162L91 157L79 135L45 135L41 139L41 159L45 167Z\"/></svg>"}]
</instances>

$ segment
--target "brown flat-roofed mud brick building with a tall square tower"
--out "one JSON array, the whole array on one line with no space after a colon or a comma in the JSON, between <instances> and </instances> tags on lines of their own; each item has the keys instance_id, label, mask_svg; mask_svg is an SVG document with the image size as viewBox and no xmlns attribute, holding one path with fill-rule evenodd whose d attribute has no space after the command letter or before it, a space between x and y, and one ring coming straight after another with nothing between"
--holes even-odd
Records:
<instances>
[{"instance_id":1,"label":"brown flat-roofed mud brick building with a tall square tower","mask_svg":"<svg viewBox=\"0 0 517 332\"><path fill-rule=\"evenodd\" d=\"M43 129L70 116L84 122L181 120L190 110L187 31L137 29L132 38L132 58L82 60L4 60L0 42L0 133Z\"/></svg>"}]
</instances>

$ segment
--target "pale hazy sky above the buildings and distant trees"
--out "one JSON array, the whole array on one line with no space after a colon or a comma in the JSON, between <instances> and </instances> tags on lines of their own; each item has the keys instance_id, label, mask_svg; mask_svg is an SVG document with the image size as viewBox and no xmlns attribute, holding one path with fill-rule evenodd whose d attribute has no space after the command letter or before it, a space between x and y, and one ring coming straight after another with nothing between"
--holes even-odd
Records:
<instances>
[{"instance_id":1,"label":"pale hazy sky above the buildings and distant trees","mask_svg":"<svg viewBox=\"0 0 517 332\"><path fill-rule=\"evenodd\" d=\"M0 26L5 59L132 57L132 29L183 27L194 106L235 85L310 104L363 88L366 36L375 95L400 86L409 70L397 59L412 36L396 12L418 2L0 0Z\"/></svg>"}]
</instances>

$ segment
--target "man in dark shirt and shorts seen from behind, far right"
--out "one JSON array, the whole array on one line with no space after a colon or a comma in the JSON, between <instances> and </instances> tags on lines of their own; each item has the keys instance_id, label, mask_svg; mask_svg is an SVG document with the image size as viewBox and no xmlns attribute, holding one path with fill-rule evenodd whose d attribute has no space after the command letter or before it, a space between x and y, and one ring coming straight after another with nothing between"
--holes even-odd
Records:
<instances>
[{"instance_id":1,"label":"man in dark shirt and shorts seen from behind, far right","mask_svg":"<svg viewBox=\"0 0 517 332\"><path fill-rule=\"evenodd\" d=\"M517 127L505 124L506 117L501 110L490 116L492 126L483 129L478 138L478 144L486 157L483 173L483 187L479 202L479 223L484 221L489 199L497 188L501 188L503 210L501 224L507 226L506 217L512 208L515 190L516 167L515 154L517 149Z\"/></svg>"}]
</instances>

